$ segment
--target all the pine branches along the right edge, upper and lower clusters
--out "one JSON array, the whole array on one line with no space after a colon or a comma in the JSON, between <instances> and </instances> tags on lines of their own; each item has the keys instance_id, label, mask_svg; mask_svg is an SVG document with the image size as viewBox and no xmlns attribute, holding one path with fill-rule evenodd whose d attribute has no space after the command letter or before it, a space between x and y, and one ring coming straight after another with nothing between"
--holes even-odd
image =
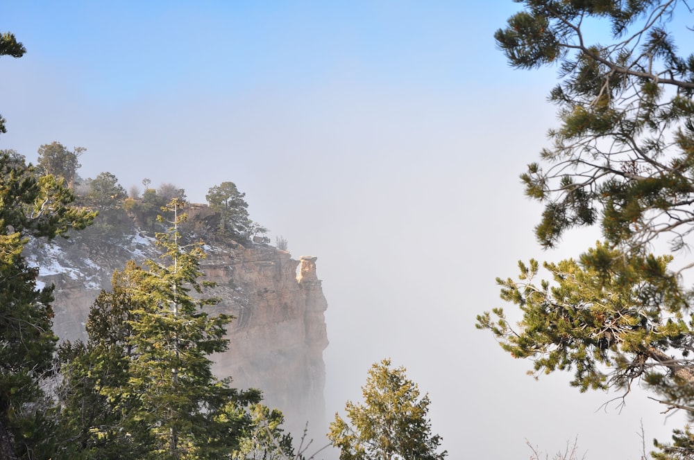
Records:
<instances>
[{"instance_id":1,"label":"all the pine branches along the right edge, upper and lower clusters","mask_svg":"<svg viewBox=\"0 0 694 460\"><path fill-rule=\"evenodd\" d=\"M533 373L572 370L572 384L623 389L643 382L671 409L694 415L693 291L684 282L694 230L694 55L685 1L523 0L495 34L511 66L559 67L549 100L559 127L521 175L544 206L536 236L557 245L566 230L598 226L604 242L577 260L519 263L518 280L498 279L516 304L477 317ZM689 17L689 16L687 16ZM691 22L691 21L690 21ZM609 24L607 43L590 42ZM651 254L659 242L671 254ZM656 442L661 459L691 458L688 428ZM684 450L683 450L684 449Z\"/></svg>"}]
</instances>

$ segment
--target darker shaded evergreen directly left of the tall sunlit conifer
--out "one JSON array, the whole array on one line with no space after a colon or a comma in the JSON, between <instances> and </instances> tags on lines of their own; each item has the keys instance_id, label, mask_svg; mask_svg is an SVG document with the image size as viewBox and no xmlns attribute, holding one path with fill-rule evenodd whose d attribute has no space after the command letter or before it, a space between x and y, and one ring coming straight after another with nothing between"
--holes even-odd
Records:
<instances>
[{"instance_id":1,"label":"darker shaded evergreen directly left of the tall sunlit conifer","mask_svg":"<svg viewBox=\"0 0 694 460\"><path fill-rule=\"evenodd\" d=\"M130 344L137 321L133 310L134 262L112 276L110 291L102 291L90 310L86 344L63 343L59 348L62 384L58 391L61 442L58 459L139 459L153 449L149 425L137 417L137 395L127 391Z\"/></svg>"}]
</instances>

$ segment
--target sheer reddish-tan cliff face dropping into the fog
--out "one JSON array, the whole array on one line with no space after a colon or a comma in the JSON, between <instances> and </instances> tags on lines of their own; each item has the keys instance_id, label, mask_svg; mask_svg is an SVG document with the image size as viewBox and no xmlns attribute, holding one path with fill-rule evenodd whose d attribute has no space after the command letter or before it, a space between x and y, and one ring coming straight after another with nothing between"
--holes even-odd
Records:
<instances>
[{"instance_id":1,"label":"sheer reddish-tan cliff face dropping into the fog","mask_svg":"<svg viewBox=\"0 0 694 460\"><path fill-rule=\"evenodd\" d=\"M315 261L255 245L215 251L205 262L224 299L217 308L236 317L229 328L230 349L215 360L215 373L230 375L235 386L262 389L269 405L288 414L287 426L295 433L307 421L321 429L325 424L323 313L328 303Z\"/></svg>"}]
</instances>

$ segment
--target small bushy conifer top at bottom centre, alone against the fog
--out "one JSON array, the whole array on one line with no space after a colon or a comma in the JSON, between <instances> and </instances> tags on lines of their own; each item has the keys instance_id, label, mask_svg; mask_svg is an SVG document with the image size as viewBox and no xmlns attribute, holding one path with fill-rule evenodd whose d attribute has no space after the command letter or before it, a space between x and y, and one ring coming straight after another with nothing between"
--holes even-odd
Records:
<instances>
[{"instance_id":1,"label":"small bushy conifer top at bottom centre, alone against the fog","mask_svg":"<svg viewBox=\"0 0 694 460\"><path fill-rule=\"evenodd\" d=\"M364 404L347 402L350 423L335 414L328 437L340 449L340 460L443 459L441 436L432 436L427 419L429 396L420 397L405 368L390 360L373 364L362 387Z\"/></svg>"}]
</instances>

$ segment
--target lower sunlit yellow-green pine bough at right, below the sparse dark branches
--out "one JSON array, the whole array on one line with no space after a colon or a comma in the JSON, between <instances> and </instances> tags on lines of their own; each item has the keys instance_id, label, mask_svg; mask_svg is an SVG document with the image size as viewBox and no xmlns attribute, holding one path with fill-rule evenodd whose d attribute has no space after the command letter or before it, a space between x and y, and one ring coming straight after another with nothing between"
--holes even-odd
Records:
<instances>
[{"instance_id":1,"label":"lower sunlit yellow-green pine bough at right, below the sparse dark branches","mask_svg":"<svg viewBox=\"0 0 694 460\"><path fill-rule=\"evenodd\" d=\"M668 272L671 260L625 256L598 244L579 261L545 263L553 283L539 285L538 263L519 263L519 281L497 280L501 298L523 312L517 328L500 308L495 320L489 312L478 316L477 327L491 330L513 357L531 359L534 375L573 370L571 384L581 391L629 389L640 379L654 391L688 398L694 375L686 347L694 321L684 315L690 299ZM668 355L672 349L683 350L679 360Z\"/></svg>"}]
</instances>

